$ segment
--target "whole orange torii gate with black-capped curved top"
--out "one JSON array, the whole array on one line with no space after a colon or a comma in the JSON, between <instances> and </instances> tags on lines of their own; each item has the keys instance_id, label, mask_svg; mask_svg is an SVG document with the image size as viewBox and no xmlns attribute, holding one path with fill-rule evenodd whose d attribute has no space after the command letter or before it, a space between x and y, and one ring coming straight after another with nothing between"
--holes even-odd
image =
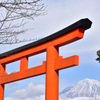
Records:
<instances>
[{"instance_id":1,"label":"whole orange torii gate with black-capped curved top","mask_svg":"<svg viewBox=\"0 0 100 100\"><path fill-rule=\"evenodd\" d=\"M46 74L45 100L58 100L59 70L79 64L78 55L64 59L59 56L59 47L83 38L91 24L89 19L81 19L48 37L0 54L0 100L4 99L5 84L41 74ZM28 57L45 51L47 60L40 66L28 68ZM20 71L7 74L6 64L17 60L20 60Z\"/></svg>"}]
</instances>

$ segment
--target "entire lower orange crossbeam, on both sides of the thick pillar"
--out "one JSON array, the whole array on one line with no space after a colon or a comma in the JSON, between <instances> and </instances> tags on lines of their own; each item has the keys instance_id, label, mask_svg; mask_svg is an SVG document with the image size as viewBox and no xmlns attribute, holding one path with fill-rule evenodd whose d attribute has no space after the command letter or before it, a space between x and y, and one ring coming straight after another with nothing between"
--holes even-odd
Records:
<instances>
[{"instance_id":1,"label":"entire lower orange crossbeam, on both sides of the thick pillar","mask_svg":"<svg viewBox=\"0 0 100 100\"><path fill-rule=\"evenodd\" d=\"M59 59L56 59L55 70L61 70L64 68L77 66L79 64L78 59L79 57L77 55L64 59L62 57L59 57ZM0 84L6 84L21 79L38 76L45 73L46 73L46 62L43 62L42 65L26 69L25 71L19 71L12 74L1 75Z\"/></svg>"}]
</instances>

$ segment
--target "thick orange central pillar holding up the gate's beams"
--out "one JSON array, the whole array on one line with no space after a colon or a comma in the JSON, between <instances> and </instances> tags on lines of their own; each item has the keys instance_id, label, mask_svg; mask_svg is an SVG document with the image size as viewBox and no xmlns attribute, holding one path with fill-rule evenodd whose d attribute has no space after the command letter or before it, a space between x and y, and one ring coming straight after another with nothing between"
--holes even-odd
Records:
<instances>
[{"instance_id":1,"label":"thick orange central pillar holding up the gate's beams","mask_svg":"<svg viewBox=\"0 0 100 100\"><path fill-rule=\"evenodd\" d=\"M58 49L53 46L47 48L46 69L46 100L58 100L58 71L54 70L55 61L58 57Z\"/></svg>"}]
</instances>

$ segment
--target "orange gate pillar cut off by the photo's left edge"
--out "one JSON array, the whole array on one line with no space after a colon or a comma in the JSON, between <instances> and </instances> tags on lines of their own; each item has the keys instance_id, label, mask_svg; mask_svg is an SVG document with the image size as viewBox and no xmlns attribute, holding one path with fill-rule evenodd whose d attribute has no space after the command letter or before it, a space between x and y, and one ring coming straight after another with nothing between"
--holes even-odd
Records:
<instances>
[{"instance_id":1,"label":"orange gate pillar cut off by the photo's left edge","mask_svg":"<svg viewBox=\"0 0 100 100\"><path fill-rule=\"evenodd\" d=\"M5 65L0 64L0 75L4 75ZM4 84L0 84L0 100L4 100Z\"/></svg>"}]
</instances>

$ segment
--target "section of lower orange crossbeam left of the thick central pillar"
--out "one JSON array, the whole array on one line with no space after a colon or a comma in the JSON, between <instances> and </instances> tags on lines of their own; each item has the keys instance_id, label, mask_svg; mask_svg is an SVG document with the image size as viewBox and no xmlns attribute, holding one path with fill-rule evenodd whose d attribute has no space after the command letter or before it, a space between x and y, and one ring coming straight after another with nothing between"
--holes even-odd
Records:
<instances>
[{"instance_id":1,"label":"section of lower orange crossbeam left of the thick central pillar","mask_svg":"<svg viewBox=\"0 0 100 100\"><path fill-rule=\"evenodd\" d=\"M7 83L18 81L21 79L45 74L45 72L46 72L45 67L46 67L46 62L43 62L42 65L33 67L33 68L29 68L25 71L19 71L19 72L15 72L12 74L1 75L0 76L0 84L7 84Z\"/></svg>"}]
</instances>

